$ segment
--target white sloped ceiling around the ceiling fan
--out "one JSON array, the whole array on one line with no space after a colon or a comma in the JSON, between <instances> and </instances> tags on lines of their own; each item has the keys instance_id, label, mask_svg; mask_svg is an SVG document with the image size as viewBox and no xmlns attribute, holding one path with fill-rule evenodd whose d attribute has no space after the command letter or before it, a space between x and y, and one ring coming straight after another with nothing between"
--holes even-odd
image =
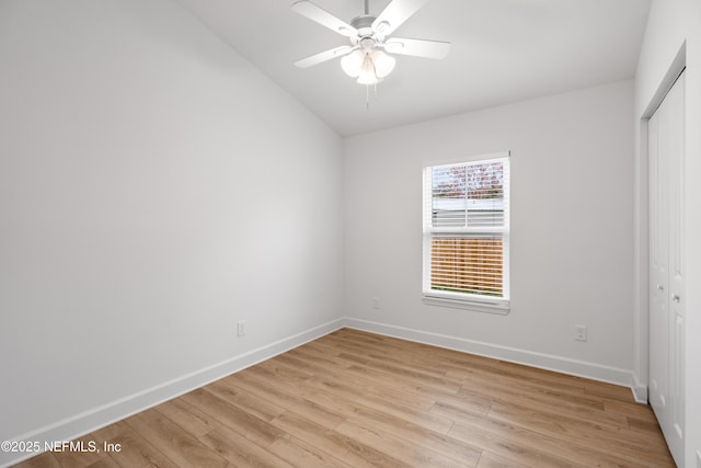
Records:
<instances>
[{"instance_id":1,"label":"white sloped ceiling around the ceiling fan","mask_svg":"<svg viewBox=\"0 0 701 468\"><path fill-rule=\"evenodd\" d=\"M347 39L294 0L176 0L342 136L632 78L650 0L432 0L393 34L448 41L448 57L397 56L377 88L331 60L297 59ZM364 0L313 0L349 22ZM370 0L378 14L389 0Z\"/></svg>"}]
</instances>

